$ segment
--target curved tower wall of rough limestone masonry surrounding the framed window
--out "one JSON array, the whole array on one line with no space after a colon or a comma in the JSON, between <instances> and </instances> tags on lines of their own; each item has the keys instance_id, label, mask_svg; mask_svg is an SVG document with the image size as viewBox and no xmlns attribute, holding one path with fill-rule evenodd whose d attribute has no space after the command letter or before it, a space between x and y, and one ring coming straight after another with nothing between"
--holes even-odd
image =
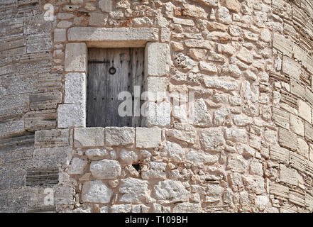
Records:
<instances>
[{"instance_id":1,"label":"curved tower wall of rough limestone masonry surrounding the framed window","mask_svg":"<svg viewBox=\"0 0 313 227\"><path fill-rule=\"evenodd\" d=\"M1 0L0 12L1 212L312 212L311 1ZM61 128L72 27L157 28L170 70L153 82L194 92L194 121L171 105L147 128Z\"/></svg>"}]
</instances>

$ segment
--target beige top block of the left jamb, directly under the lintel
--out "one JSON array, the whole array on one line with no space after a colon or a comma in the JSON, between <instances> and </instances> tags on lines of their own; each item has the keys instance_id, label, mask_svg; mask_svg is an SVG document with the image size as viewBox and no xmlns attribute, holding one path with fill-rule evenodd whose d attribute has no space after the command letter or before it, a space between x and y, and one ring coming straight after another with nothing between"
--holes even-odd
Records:
<instances>
[{"instance_id":1,"label":"beige top block of the left jamb, directly under the lintel","mask_svg":"<svg viewBox=\"0 0 313 227\"><path fill-rule=\"evenodd\" d=\"M67 43L65 72L87 72L87 51L85 43Z\"/></svg>"}]
</instances>

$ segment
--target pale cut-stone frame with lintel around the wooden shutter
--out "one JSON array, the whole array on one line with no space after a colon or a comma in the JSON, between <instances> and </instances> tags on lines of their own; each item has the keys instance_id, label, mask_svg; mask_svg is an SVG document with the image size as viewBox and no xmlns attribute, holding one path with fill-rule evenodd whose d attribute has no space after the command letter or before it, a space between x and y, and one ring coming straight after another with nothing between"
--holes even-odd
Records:
<instances>
[{"instance_id":1,"label":"pale cut-stone frame with lintel around the wooden shutter","mask_svg":"<svg viewBox=\"0 0 313 227\"><path fill-rule=\"evenodd\" d=\"M67 40L65 96L57 107L57 128L86 128L88 48L145 48L145 91L166 92L170 47L160 43L158 28L72 27L67 31ZM160 113L155 106L155 113L145 117L145 126L170 125L170 103L159 105L168 111Z\"/></svg>"}]
</instances>

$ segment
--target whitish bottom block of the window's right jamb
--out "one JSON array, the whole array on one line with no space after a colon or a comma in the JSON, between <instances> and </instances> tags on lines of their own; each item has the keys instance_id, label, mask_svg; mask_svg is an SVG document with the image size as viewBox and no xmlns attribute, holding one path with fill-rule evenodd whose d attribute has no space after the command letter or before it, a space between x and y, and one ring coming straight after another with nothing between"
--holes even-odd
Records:
<instances>
[{"instance_id":1,"label":"whitish bottom block of the window's right jamb","mask_svg":"<svg viewBox=\"0 0 313 227\"><path fill-rule=\"evenodd\" d=\"M149 102L145 106L145 126L170 125L170 103L163 101L160 104Z\"/></svg>"}]
</instances>

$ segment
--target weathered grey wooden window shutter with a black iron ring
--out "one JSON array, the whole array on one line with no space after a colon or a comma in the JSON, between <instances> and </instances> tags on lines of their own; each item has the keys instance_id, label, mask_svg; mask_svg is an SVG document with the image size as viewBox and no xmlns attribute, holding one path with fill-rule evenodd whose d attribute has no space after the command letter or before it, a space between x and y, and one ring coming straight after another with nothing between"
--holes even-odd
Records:
<instances>
[{"instance_id":1,"label":"weathered grey wooden window shutter with a black iron ring","mask_svg":"<svg viewBox=\"0 0 313 227\"><path fill-rule=\"evenodd\" d=\"M143 70L144 48L89 48L86 126L141 126L141 117L133 116L134 106L132 116L119 116L125 99L118 96L130 92L134 97L134 86L142 91Z\"/></svg>"}]
</instances>

